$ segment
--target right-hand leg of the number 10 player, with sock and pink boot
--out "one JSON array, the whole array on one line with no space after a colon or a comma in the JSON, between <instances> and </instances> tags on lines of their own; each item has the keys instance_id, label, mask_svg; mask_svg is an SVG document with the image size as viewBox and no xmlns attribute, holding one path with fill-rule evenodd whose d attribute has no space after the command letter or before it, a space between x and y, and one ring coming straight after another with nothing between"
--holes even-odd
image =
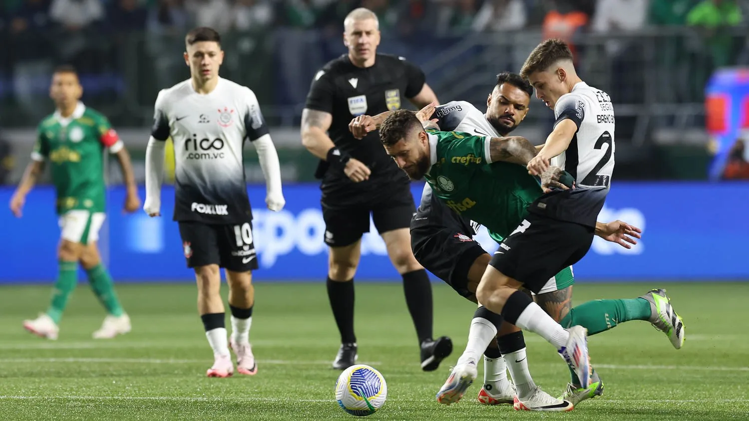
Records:
<instances>
[{"instance_id":1,"label":"right-hand leg of the number 10 player, with sock and pink boot","mask_svg":"<svg viewBox=\"0 0 749 421\"><path fill-rule=\"evenodd\" d=\"M252 272L226 271L229 284L229 309L231 310L231 350L237 355L237 372L254 375L258 363L249 344L249 328L252 326L252 306L255 304L255 287Z\"/></svg>"}]
</instances>

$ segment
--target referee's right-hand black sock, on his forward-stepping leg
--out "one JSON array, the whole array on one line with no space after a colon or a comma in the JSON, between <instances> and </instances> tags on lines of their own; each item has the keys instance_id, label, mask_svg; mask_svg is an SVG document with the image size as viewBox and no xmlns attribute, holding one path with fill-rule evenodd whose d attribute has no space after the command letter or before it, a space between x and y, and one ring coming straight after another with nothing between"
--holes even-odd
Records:
<instances>
[{"instance_id":1,"label":"referee's right-hand black sock, on his forward-stepping leg","mask_svg":"<svg viewBox=\"0 0 749 421\"><path fill-rule=\"evenodd\" d=\"M416 336L419 343L431 339L432 334L432 299L431 283L425 269L410 271L401 275L403 277L403 292L406 295L406 305L411 313L413 325L416 327Z\"/></svg>"}]
</instances>

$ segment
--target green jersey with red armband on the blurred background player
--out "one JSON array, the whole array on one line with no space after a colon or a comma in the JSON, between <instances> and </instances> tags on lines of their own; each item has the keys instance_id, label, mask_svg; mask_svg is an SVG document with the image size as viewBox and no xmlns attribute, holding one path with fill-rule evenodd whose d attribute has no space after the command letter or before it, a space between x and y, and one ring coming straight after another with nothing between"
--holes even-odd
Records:
<instances>
[{"instance_id":1,"label":"green jersey with red armband on the blurred background player","mask_svg":"<svg viewBox=\"0 0 749 421\"><path fill-rule=\"evenodd\" d=\"M58 214L71 209L104 212L103 152L109 148L117 153L122 147L109 120L81 102L70 117L55 111L42 120L31 159L49 161Z\"/></svg>"}]
</instances>

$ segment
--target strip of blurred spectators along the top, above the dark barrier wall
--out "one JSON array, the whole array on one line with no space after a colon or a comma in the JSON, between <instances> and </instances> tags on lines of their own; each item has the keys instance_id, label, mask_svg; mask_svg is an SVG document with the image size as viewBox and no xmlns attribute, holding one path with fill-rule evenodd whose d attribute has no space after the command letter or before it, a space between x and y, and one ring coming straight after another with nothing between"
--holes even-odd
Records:
<instances>
[{"instance_id":1,"label":"strip of blurred spectators along the top, above the dark barrier wall","mask_svg":"<svg viewBox=\"0 0 749 421\"><path fill-rule=\"evenodd\" d=\"M192 25L222 32L278 26L338 32L346 13L359 6L377 13L381 29L399 34L534 26L570 33L646 25L715 28L741 25L749 12L748 2L738 0L6 0L3 16L15 35L55 26L69 32L183 32Z\"/></svg>"}]
</instances>

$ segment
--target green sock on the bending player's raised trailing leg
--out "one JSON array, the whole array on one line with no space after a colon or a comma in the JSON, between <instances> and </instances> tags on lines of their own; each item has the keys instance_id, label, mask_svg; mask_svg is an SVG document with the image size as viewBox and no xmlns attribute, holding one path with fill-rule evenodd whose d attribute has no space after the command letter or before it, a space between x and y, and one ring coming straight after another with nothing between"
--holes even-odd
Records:
<instances>
[{"instance_id":1,"label":"green sock on the bending player's raised trailing leg","mask_svg":"<svg viewBox=\"0 0 749 421\"><path fill-rule=\"evenodd\" d=\"M616 325L630 320L650 319L650 302L645 298L625 298L622 300L595 300L580 304L569 310L560 322L563 328L580 325L588 330L588 336L600 334ZM595 370L594 370L595 371ZM580 379L569 368L572 384L580 384Z\"/></svg>"}]
</instances>

